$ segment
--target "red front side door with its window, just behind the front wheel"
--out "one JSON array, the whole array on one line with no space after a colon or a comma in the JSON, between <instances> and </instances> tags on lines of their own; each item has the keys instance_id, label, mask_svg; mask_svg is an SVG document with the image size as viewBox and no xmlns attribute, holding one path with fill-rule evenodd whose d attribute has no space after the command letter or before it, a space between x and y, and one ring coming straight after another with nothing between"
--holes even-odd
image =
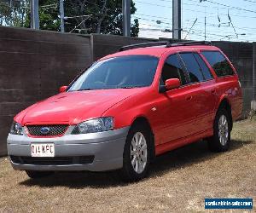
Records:
<instances>
[{"instance_id":1,"label":"red front side door with its window, just behind the front wheel","mask_svg":"<svg viewBox=\"0 0 256 213\"><path fill-rule=\"evenodd\" d=\"M195 118L193 110L191 110L194 106L188 77L177 54L170 55L166 59L162 69L160 85L164 85L166 79L169 78L178 78L181 87L160 93L158 102L160 144L191 135L193 119Z\"/></svg>"}]
</instances>

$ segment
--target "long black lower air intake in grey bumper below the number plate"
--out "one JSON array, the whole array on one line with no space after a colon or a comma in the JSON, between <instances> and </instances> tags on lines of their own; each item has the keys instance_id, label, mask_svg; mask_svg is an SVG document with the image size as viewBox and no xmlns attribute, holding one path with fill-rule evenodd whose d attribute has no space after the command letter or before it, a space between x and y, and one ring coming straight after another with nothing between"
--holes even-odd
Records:
<instances>
[{"instance_id":1,"label":"long black lower air intake in grey bumper below the number plate","mask_svg":"<svg viewBox=\"0 0 256 213\"><path fill-rule=\"evenodd\" d=\"M54 157L54 158L10 156L10 159L14 164L72 165L72 164L92 164L94 160L94 156Z\"/></svg>"}]
</instances>

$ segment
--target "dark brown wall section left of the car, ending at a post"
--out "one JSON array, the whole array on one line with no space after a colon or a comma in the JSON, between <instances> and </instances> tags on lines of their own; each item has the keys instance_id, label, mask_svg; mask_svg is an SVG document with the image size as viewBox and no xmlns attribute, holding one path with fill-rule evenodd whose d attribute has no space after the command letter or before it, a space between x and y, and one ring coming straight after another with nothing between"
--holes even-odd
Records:
<instances>
[{"instance_id":1,"label":"dark brown wall section left of the car, ending at a post","mask_svg":"<svg viewBox=\"0 0 256 213\"><path fill-rule=\"evenodd\" d=\"M91 62L90 36L0 27L0 156L15 114L57 94Z\"/></svg>"}]
</instances>

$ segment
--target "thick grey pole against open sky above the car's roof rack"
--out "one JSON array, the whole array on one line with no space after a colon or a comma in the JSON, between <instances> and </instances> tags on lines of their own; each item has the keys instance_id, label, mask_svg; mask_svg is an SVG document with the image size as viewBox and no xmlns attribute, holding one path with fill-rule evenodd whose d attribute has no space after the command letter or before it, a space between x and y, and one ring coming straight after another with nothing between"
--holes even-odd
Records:
<instances>
[{"instance_id":1,"label":"thick grey pole against open sky above the car's roof rack","mask_svg":"<svg viewBox=\"0 0 256 213\"><path fill-rule=\"evenodd\" d=\"M181 39L181 0L172 0L172 38Z\"/></svg>"}]
</instances>

